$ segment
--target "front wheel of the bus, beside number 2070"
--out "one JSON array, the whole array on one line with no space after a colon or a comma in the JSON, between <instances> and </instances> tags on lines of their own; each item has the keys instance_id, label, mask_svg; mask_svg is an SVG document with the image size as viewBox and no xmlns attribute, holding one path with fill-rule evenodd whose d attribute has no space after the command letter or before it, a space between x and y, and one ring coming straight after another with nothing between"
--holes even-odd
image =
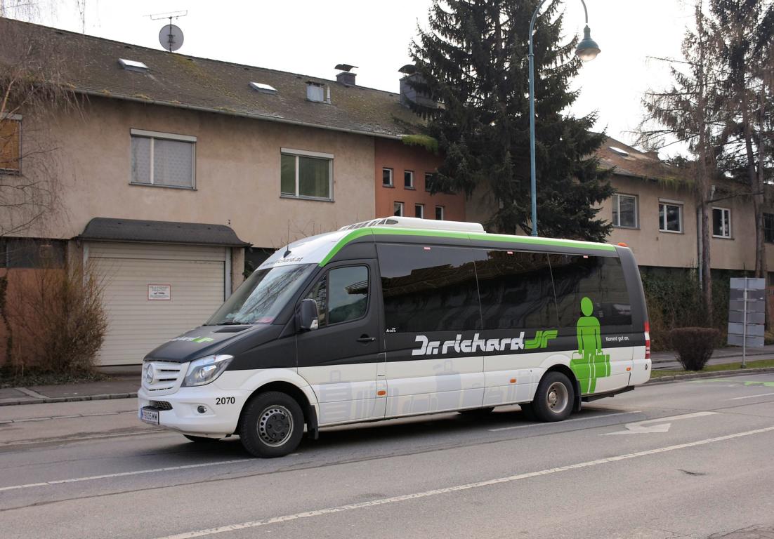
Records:
<instances>
[{"instance_id":1,"label":"front wheel of the bus, beside number 2070","mask_svg":"<svg viewBox=\"0 0 774 539\"><path fill-rule=\"evenodd\" d=\"M253 456L281 457L298 447L303 425L303 411L296 399L267 391L246 404L239 422L239 439Z\"/></svg>"}]
</instances>

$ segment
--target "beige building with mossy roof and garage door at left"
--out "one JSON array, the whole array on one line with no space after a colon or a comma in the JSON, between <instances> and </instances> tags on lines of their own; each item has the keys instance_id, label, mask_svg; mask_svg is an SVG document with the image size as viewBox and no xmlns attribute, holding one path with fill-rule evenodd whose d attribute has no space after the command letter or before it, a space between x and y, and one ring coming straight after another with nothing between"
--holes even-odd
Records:
<instances>
[{"instance_id":1,"label":"beige building with mossy roof and garage door at left","mask_svg":"<svg viewBox=\"0 0 774 539\"><path fill-rule=\"evenodd\" d=\"M0 271L43 258L98 268L101 365L139 363L203 323L245 257L252 267L289 240L375 217L377 141L394 144L379 169L431 170L399 142L416 117L398 93L354 73L324 80L0 18L0 65L30 63L81 104L21 107L3 123L0 174L24 181L43 165L58 211L2 237Z\"/></svg>"}]
</instances>

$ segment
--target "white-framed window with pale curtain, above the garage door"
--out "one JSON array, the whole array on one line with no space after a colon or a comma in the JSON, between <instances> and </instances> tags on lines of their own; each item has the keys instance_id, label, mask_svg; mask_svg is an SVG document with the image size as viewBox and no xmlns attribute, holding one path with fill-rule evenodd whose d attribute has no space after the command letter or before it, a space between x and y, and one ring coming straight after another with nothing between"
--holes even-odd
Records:
<instances>
[{"instance_id":1,"label":"white-framed window with pale curtain, above the garage door","mask_svg":"<svg viewBox=\"0 0 774 539\"><path fill-rule=\"evenodd\" d=\"M132 179L142 186L196 187L196 137L132 129Z\"/></svg>"}]
</instances>

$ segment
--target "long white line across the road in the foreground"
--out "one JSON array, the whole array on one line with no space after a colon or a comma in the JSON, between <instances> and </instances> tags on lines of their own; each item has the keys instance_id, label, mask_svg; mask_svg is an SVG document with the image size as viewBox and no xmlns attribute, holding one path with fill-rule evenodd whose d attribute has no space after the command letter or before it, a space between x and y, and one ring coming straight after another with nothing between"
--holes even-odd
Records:
<instances>
[{"instance_id":1,"label":"long white line across the road in the foreground","mask_svg":"<svg viewBox=\"0 0 774 539\"><path fill-rule=\"evenodd\" d=\"M608 462L618 462L620 460L636 459L638 457L646 455L656 455L658 453L664 453L668 451L676 451L677 449L686 449L689 447L696 447L697 445L706 445L714 442L724 442L725 440L731 440L734 438L741 438L743 436L751 436L761 434L763 432L772 432L774 427L757 428L754 431L737 432L735 434L717 436L717 438L707 438L704 440L698 440L697 442L687 442L678 445L667 445L666 447L659 447L656 449L648 449L646 451L639 451L635 453L627 453L625 455L617 455L608 457L607 459L591 460L587 462L578 462L577 464L570 464L569 466L561 466L560 468L543 469L539 472L527 472L520 473L516 476L499 477L498 479L488 479L486 481L479 481L478 483L467 483L464 485L447 486L443 489L426 490L425 492L404 494L402 496L392 496L390 498L381 498L379 500L372 500L370 502L351 503L349 505L340 505L337 507L327 507L326 509L305 511L303 513L294 513L290 515L283 515L281 517L271 517L264 520L252 520L249 522L242 522L240 524L229 524L228 526L213 527L207 530L195 530L188 531L183 534L168 535L166 537L159 537L158 539L193 539L193 537L205 537L207 535L223 534L228 531L245 530L247 528L268 526L269 524L277 524L279 522L289 522L290 520L300 520L302 518L319 517L320 515L327 515L331 513L342 513L344 511L351 511L356 509L365 509L366 507L377 507L380 505L386 505L388 503L397 503L406 500L418 500L420 498L426 498L429 496L438 496L440 494L454 493L461 490L478 489L483 486L498 485L501 483L512 483L521 479L529 479L530 477L547 476L553 473L568 472L573 469L588 468L590 466L598 466L600 464L607 464Z\"/></svg>"}]
</instances>

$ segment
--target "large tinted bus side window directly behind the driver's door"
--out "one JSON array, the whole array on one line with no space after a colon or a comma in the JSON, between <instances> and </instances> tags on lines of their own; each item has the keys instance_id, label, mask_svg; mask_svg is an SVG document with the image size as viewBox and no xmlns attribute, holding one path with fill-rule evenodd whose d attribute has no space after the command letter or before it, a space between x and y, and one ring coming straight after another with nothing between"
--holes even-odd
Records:
<instances>
[{"instance_id":1,"label":"large tinted bus side window directly behind the driver's door","mask_svg":"<svg viewBox=\"0 0 774 539\"><path fill-rule=\"evenodd\" d=\"M474 260L485 251L379 245L378 256L388 331L481 329Z\"/></svg>"}]
</instances>

